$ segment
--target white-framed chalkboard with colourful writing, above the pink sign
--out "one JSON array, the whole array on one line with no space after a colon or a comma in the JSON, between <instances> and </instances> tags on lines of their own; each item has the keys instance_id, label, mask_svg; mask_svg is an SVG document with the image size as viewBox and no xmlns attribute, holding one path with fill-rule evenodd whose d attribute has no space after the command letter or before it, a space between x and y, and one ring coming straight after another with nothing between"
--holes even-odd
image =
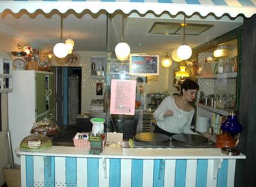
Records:
<instances>
[{"instance_id":1,"label":"white-framed chalkboard with colourful writing, above the pink sign","mask_svg":"<svg viewBox=\"0 0 256 187\"><path fill-rule=\"evenodd\" d=\"M159 56L146 54L130 54L129 74L154 76L159 74Z\"/></svg>"}]
</instances>

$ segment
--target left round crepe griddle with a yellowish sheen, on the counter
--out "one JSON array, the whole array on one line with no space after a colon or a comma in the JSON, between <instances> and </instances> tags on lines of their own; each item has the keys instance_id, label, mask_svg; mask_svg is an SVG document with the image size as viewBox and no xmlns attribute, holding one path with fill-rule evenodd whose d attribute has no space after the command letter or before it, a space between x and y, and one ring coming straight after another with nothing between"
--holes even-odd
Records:
<instances>
[{"instance_id":1,"label":"left round crepe griddle with a yellowish sheen, on the counter","mask_svg":"<svg viewBox=\"0 0 256 187\"><path fill-rule=\"evenodd\" d=\"M164 145L164 144L169 144L170 141L170 137L167 135L163 135L160 133L151 133L151 132L147 132L147 133L139 133L137 135L134 136L135 141L139 141L142 143L148 143L151 145Z\"/></svg>"}]
</instances>

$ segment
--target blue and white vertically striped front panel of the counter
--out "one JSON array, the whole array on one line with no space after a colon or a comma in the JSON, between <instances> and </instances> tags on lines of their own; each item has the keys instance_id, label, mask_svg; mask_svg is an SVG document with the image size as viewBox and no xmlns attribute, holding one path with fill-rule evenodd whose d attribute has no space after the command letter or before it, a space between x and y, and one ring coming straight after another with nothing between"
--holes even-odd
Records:
<instances>
[{"instance_id":1,"label":"blue and white vertically striped front panel of the counter","mask_svg":"<svg viewBox=\"0 0 256 187\"><path fill-rule=\"evenodd\" d=\"M21 161L22 186L234 186L236 165L235 159L33 155Z\"/></svg>"}]
</instances>

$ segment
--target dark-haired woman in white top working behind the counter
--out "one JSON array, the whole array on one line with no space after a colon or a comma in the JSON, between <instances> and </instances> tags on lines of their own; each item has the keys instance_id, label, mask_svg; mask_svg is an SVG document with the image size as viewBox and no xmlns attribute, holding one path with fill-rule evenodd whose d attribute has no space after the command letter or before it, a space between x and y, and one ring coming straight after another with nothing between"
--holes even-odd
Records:
<instances>
[{"instance_id":1,"label":"dark-haired woman in white top working behind the counter","mask_svg":"<svg viewBox=\"0 0 256 187\"><path fill-rule=\"evenodd\" d=\"M155 133L172 136L177 133L193 133L190 130L195 113L190 102L197 96L199 86L195 81L185 80L181 85L180 96L168 96L155 110L153 117L157 120Z\"/></svg>"}]
</instances>

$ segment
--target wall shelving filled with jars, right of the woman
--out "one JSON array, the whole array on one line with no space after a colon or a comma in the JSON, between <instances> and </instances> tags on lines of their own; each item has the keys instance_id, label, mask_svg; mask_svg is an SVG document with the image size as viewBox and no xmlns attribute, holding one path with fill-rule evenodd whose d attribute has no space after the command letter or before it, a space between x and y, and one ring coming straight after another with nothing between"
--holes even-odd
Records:
<instances>
[{"instance_id":1,"label":"wall shelving filled with jars, right of the woman","mask_svg":"<svg viewBox=\"0 0 256 187\"><path fill-rule=\"evenodd\" d=\"M220 48L220 45L226 45L226 48ZM218 56L216 51L224 53ZM195 103L196 114L197 118L208 118L208 132L215 137L221 133L221 124L229 112L237 108L237 39L198 51L197 57L196 78L200 93Z\"/></svg>"}]
</instances>

